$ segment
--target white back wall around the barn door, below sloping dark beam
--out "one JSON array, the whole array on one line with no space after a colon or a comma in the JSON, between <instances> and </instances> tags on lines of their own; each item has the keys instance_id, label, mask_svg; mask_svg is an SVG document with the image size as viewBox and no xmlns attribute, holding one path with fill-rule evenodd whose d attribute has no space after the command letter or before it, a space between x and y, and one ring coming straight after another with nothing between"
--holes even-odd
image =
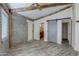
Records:
<instances>
[{"instance_id":1,"label":"white back wall around the barn door, below sloping dark beam","mask_svg":"<svg viewBox=\"0 0 79 59\"><path fill-rule=\"evenodd\" d=\"M51 15L51 16L48 16L48 17L45 17L45 18L42 18L42 19L34 21L34 39L35 40L39 40L39 25L40 25L40 23L44 22L44 30L45 30L45 33L44 33L45 34L45 38L44 38L44 40L48 41L48 39L47 39L47 35L48 35L47 34L47 20L67 18L67 17L72 17L72 8L66 9L64 11L61 11L61 12L57 13L57 14L54 14L54 15ZM61 39L61 36L60 36L61 24L60 23L61 23L61 21L57 22L57 24L59 26L58 27L59 28L58 29L58 35L57 35L58 40ZM59 44L61 44L60 42L61 42L61 40L58 41Z\"/></svg>"}]
</instances>

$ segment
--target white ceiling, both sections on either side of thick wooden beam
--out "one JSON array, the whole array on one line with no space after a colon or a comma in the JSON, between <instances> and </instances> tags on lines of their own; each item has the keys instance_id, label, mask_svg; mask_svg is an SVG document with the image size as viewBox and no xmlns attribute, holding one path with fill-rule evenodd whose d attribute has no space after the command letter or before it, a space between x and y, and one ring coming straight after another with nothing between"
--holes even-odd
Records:
<instances>
[{"instance_id":1,"label":"white ceiling, both sections on either side of thick wooden beam","mask_svg":"<svg viewBox=\"0 0 79 59\"><path fill-rule=\"evenodd\" d=\"M30 3L10 3L9 5L12 9L14 9L14 8L28 7L31 4ZM32 18L32 19L37 19L39 17L46 16L50 13L53 13L57 10L60 10L64 7L66 7L66 6L68 6L68 5L44 8L41 11L36 9L36 10L31 10L31 11L18 12L18 14L21 14L25 17L29 17L29 18Z\"/></svg>"}]
</instances>

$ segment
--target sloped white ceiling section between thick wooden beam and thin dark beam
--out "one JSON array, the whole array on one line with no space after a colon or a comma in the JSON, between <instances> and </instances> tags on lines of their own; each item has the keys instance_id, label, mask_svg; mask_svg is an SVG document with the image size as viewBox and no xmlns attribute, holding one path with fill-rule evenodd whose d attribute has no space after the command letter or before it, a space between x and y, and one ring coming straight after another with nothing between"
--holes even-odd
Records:
<instances>
[{"instance_id":1,"label":"sloped white ceiling section between thick wooden beam and thin dark beam","mask_svg":"<svg viewBox=\"0 0 79 59\"><path fill-rule=\"evenodd\" d=\"M27 16L29 18L32 18L32 19L37 19L37 18L40 18L42 16L46 16L46 15L48 15L50 13L53 13L53 12L55 12L57 10L60 10L61 8L64 8L64 7L65 6L50 7L50 8L42 9L41 11L36 9L36 10L32 10L32 11L18 12L18 13L23 15L23 16Z\"/></svg>"}]
</instances>

